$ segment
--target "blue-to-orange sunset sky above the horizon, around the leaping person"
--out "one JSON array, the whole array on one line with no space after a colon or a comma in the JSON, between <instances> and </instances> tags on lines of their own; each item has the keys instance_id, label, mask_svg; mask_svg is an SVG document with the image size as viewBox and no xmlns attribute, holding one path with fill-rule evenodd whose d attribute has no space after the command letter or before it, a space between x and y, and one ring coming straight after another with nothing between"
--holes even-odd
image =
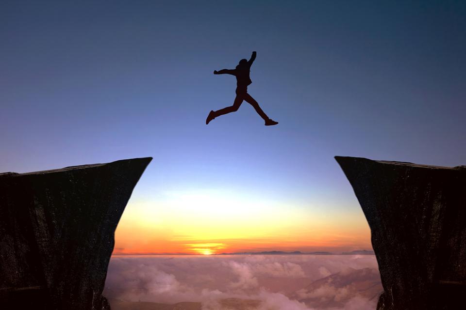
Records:
<instances>
[{"instance_id":1,"label":"blue-to-orange sunset sky above the horizon, around the leaping person","mask_svg":"<svg viewBox=\"0 0 466 310\"><path fill-rule=\"evenodd\" d=\"M0 171L152 156L115 253L370 248L334 155L466 163L465 1L1 1ZM249 104L231 105L253 50Z\"/></svg>"}]
</instances>

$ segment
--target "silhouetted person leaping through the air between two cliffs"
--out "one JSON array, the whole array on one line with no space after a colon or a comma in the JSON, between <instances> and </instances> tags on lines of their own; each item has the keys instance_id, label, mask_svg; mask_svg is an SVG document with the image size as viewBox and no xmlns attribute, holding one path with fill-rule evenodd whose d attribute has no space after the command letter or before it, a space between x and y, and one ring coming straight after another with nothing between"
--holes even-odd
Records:
<instances>
[{"instance_id":1,"label":"silhouetted person leaping through the air between two cliffs","mask_svg":"<svg viewBox=\"0 0 466 310\"><path fill-rule=\"evenodd\" d=\"M249 77L249 72L252 62L254 62L254 59L256 59L255 51L252 52L252 56L249 61L246 59L240 60L235 69L222 69L214 71L214 74L231 74L236 77L236 98L234 98L233 106L219 109L216 111L211 110L209 115L207 116L207 119L205 120L206 125L220 115L237 111L243 103L243 100L248 102L256 110L257 114L259 114L264 119L266 126L278 124L278 122L275 122L274 120L268 118L266 113L261 109L261 107L259 107L257 101L255 101L254 98L252 98L251 95L248 93L248 86L252 83Z\"/></svg>"}]
</instances>

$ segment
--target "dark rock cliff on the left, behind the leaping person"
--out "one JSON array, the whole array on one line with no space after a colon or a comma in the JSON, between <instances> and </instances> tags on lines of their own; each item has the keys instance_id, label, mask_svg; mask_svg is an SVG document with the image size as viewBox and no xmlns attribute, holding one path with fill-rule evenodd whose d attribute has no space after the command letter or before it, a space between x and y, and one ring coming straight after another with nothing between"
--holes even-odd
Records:
<instances>
[{"instance_id":1,"label":"dark rock cliff on the left, behind the leaping person","mask_svg":"<svg viewBox=\"0 0 466 310\"><path fill-rule=\"evenodd\" d=\"M151 159L0 174L0 308L110 309L114 232Z\"/></svg>"}]
</instances>

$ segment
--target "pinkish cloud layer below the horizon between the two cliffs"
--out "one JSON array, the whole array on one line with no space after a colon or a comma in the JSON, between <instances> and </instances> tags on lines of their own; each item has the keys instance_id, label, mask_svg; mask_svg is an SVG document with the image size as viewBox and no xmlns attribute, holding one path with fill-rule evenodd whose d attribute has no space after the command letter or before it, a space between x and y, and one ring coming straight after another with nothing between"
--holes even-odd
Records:
<instances>
[{"instance_id":1,"label":"pinkish cloud layer below the horizon between the two cliffs","mask_svg":"<svg viewBox=\"0 0 466 310\"><path fill-rule=\"evenodd\" d=\"M374 256L113 256L104 294L202 310L372 310Z\"/></svg>"}]
</instances>

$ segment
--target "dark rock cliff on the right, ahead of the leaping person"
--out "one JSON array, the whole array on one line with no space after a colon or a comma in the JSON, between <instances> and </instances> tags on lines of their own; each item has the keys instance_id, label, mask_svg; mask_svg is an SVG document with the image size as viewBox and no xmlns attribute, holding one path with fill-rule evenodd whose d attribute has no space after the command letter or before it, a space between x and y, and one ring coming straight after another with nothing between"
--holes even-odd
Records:
<instances>
[{"instance_id":1,"label":"dark rock cliff on the right, ahead of the leaping person","mask_svg":"<svg viewBox=\"0 0 466 310\"><path fill-rule=\"evenodd\" d=\"M377 309L462 309L466 167L335 159L372 233L384 288Z\"/></svg>"}]
</instances>

